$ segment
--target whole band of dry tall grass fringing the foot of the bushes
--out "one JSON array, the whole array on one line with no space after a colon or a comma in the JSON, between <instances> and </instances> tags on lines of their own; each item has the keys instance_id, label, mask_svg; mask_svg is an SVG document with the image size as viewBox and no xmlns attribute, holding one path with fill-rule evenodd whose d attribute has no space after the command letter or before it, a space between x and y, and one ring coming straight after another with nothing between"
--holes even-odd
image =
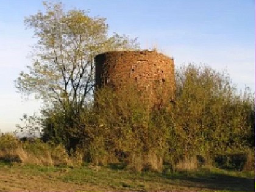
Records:
<instances>
[{"instance_id":1,"label":"whole band of dry tall grass fringing the foot of the bushes","mask_svg":"<svg viewBox=\"0 0 256 192\"><path fill-rule=\"evenodd\" d=\"M129 153L123 160L118 160L116 154L109 154L105 149L94 149L97 151L91 160L94 165L110 165L123 163L123 168L133 170L135 172L154 171L165 172L166 166L172 171L198 171L202 166L202 161L196 155L190 158L179 158L172 165L166 164L166 157L157 154L155 151L133 152ZM0 136L0 162L23 163L27 165L46 165L46 166L80 166L86 160L84 151L73 152L68 154L62 145L55 145L51 143L43 143L40 139L30 141L20 141L12 134L2 134ZM218 157L218 156L217 156ZM233 156L231 156L233 157ZM236 157L236 156L235 156ZM221 155L221 160L229 159L229 155ZM237 158L234 159L237 162ZM239 159L238 159L239 160ZM250 171L254 168L255 156L248 151L244 154L243 170ZM204 162L203 162L204 163ZM215 162L216 163L216 162ZM233 166L234 161L229 159L219 165ZM231 164L230 164L231 163ZM241 163L238 162L238 163ZM165 165L164 165L165 164ZM230 164L230 165L229 165ZM242 165L242 164L241 164ZM214 165L208 165L206 162L203 165L207 169L214 168ZM165 169L164 169L165 168ZM242 169L240 169L242 171Z\"/></svg>"}]
</instances>

